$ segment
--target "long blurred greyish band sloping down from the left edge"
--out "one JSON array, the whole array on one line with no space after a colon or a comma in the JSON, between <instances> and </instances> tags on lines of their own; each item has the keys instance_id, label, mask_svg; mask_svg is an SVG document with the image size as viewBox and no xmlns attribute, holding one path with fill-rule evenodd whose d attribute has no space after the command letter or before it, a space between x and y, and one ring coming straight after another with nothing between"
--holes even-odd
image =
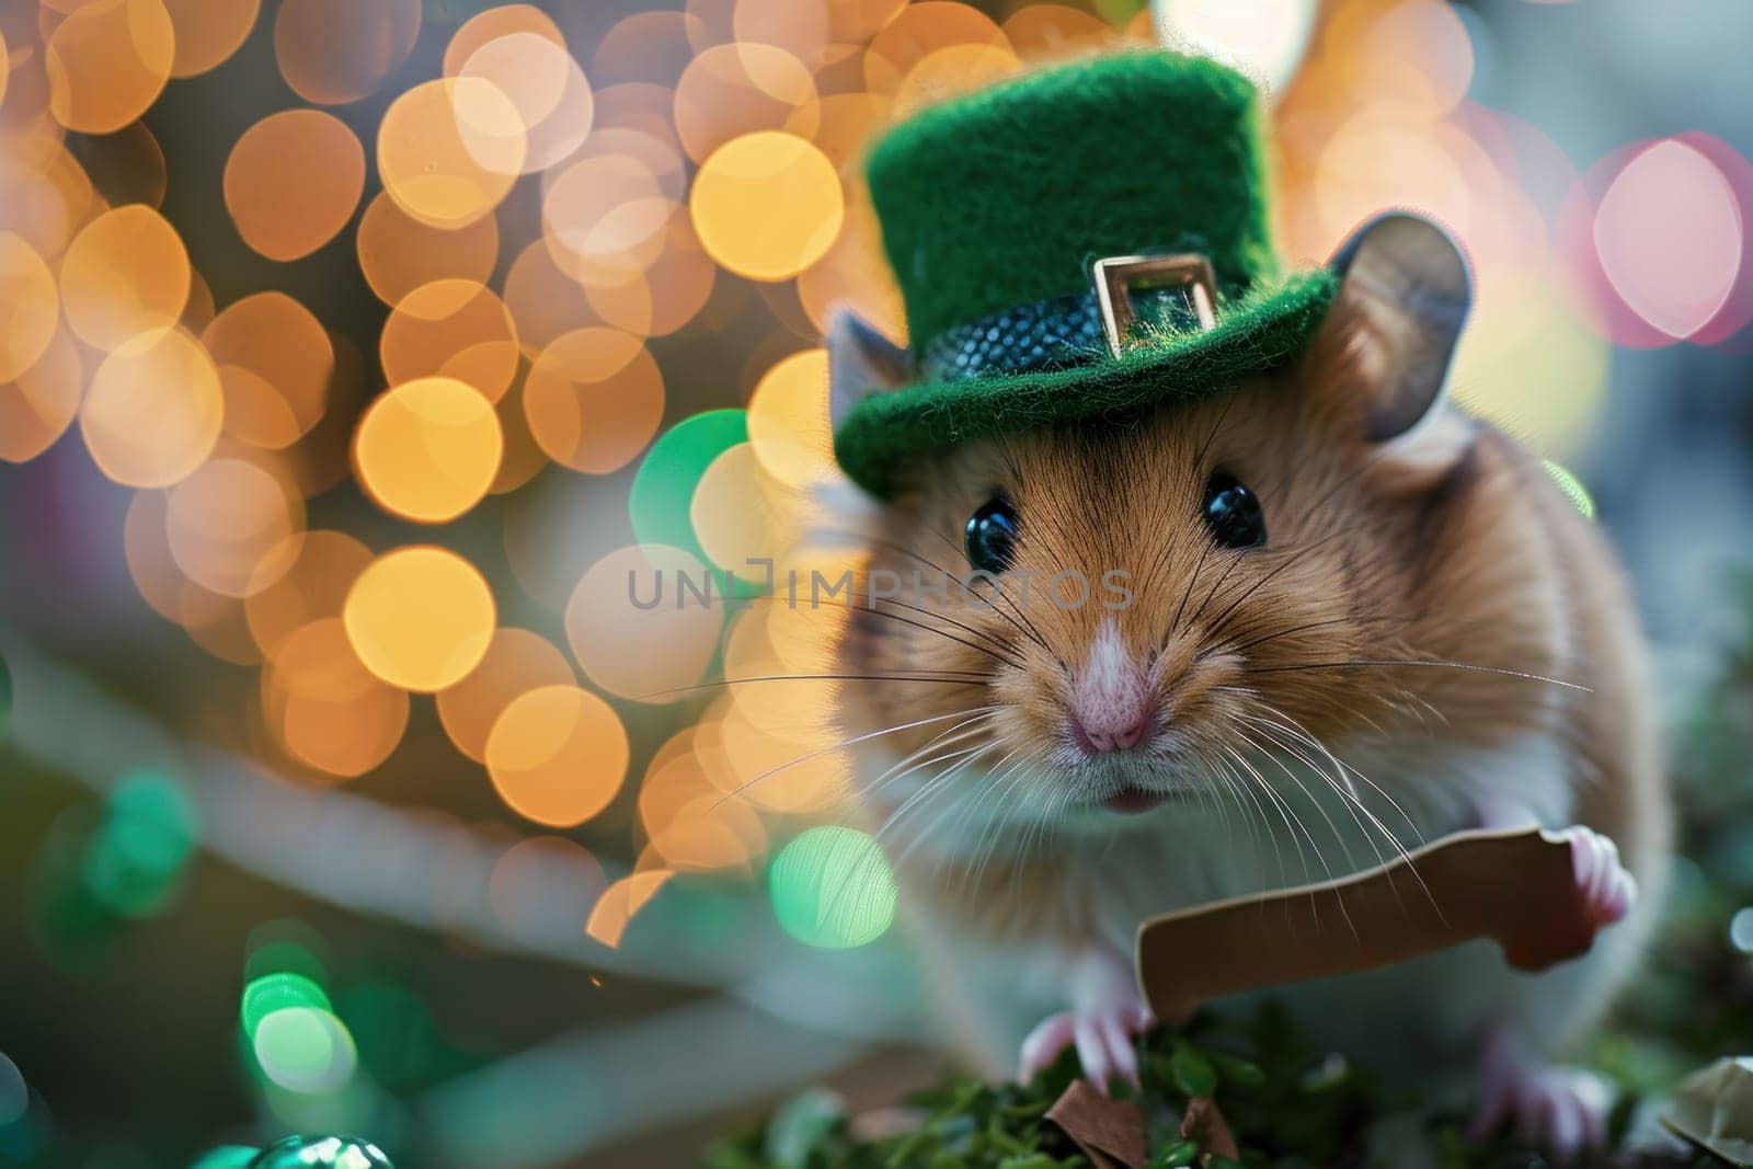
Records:
<instances>
[{"instance_id":1,"label":"long blurred greyish band sloping down from the left edge","mask_svg":"<svg viewBox=\"0 0 1753 1169\"><path fill-rule=\"evenodd\" d=\"M16 638L0 650L14 673L16 750L98 792L140 764L174 768L198 808L202 847L286 889L498 950L726 990L815 1031L871 1041L922 1034L917 973L894 945L806 950L756 897L727 899L735 920L708 938L685 927L685 903L668 890L640 911L621 948L586 936L578 906L528 889L526 904L505 913L501 899L496 913L487 880L503 847L466 825L295 783L231 752L179 745L138 710ZM724 945L726 936L735 945Z\"/></svg>"}]
</instances>

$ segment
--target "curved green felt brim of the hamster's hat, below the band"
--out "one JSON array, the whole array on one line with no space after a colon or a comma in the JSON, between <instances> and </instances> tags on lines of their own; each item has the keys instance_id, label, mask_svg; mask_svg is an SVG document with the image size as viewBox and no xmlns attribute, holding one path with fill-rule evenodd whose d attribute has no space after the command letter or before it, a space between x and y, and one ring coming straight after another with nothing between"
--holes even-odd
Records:
<instances>
[{"instance_id":1,"label":"curved green felt brim of the hamster's hat, below the band","mask_svg":"<svg viewBox=\"0 0 1753 1169\"><path fill-rule=\"evenodd\" d=\"M1217 322L1206 331L1162 335L1120 358L1104 354L1066 370L922 382L871 394L834 433L834 457L852 482L889 498L901 485L905 464L931 450L1229 389L1248 373L1297 358L1338 287L1327 268L1297 272L1218 305Z\"/></svg>"}]
</instances>

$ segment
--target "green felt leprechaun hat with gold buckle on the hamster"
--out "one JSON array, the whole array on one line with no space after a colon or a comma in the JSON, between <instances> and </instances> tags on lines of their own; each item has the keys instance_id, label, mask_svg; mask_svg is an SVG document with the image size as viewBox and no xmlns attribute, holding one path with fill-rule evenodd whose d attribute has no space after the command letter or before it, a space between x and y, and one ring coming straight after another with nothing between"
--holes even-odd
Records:
<instances>
[{"instance_id":1,"label":"green felt leprechaun hat with gold buckle on the hamster","mask_svg":"<svg viewBox=\"0 0 1753 1169\"><path fill-rule=\"evenodd\" d=\"M868 175L912 349L834 322L847 475L887 496L924 452L1210 393L1299 354L1338 277L1283 270L1264 117L1241 74L1159 51L1029 74L891 130Z\"/></svg>"}]
</instances>

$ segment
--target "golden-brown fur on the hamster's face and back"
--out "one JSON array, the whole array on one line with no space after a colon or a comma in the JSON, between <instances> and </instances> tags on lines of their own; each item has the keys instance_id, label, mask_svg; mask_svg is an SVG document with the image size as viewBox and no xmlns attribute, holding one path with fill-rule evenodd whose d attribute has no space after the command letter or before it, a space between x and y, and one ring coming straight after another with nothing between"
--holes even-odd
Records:
<instances>
[{"instance_id":1,"label":"golden-brown fur on the hamster's face and back","mask_svg":"<svg viewBox=\"0 0 1753 1169\"><path fill-rule=\"evenodd\" d=\"M1068 668L1113 619L1134 655L1162 662L1157 694L1176 768L1197 769L1236 743L1255 696L1329 743L1488 748L1557 734L1579 762L1578 822L1620 843L1648 899L1667 811L1639 636L1611 550L1539 461L1488 426L1439 408L1418 433L1369 443L1383 338L1367 312L1343 312L1301 366L1232 393L920 464L913 489L882 512L871 568L966 573L962 526L1003 489L1020 517L1008 598L1018 596L1017 571L1038 571L1040 589L1075 568L1092 582L1129 571L1134 599L1120 612L1094 601L1018 612L906 596L931 612L859 610L841 668L871 680L847 684L845 731L992 703L999 710L980 734L999 754L1052 750L1064 734ZM1218 468L1264 505L1264 547L1234 552L1210 540L1199 508ZM1430 664L1341 664L1357 659ZM927 750L945 726L882 741L901 757ZM1089 806L1108 794L1069 771L1031 782L1064 785L1061 796ZM894 810L882 794L873 804L878 817ZM948 873L940 866L919 882L903 866L901 876L919 882L910 897L973 938L1075 945L1090 925L1075 899L1054 896L1064 864L1052 848L1022 848L1006 864L969 859L957 871L952 859ZM1609 988L1602 981L1597 997Z\"/></svg>"}]
</instances>

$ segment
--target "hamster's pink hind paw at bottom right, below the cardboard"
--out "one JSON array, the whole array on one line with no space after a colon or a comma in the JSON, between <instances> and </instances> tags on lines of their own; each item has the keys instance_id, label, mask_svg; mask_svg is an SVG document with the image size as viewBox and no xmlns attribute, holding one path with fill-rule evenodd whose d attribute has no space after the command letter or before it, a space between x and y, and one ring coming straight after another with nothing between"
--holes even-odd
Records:
<instances>
[{"instance_id":1,"label":"hamster's pink hind paw at bottom right, below the cardboard","mask_svg":"<svg viewBox=\"0 0 1753 1169\"><path fill-rule=\"evenodd\" d=\"M1488 1060L1467 1136L1481 1141L1504 1125L1555 1162L1608 1141L1608 1087L1578 1067Z\"/></svg>"}]
</instances>

